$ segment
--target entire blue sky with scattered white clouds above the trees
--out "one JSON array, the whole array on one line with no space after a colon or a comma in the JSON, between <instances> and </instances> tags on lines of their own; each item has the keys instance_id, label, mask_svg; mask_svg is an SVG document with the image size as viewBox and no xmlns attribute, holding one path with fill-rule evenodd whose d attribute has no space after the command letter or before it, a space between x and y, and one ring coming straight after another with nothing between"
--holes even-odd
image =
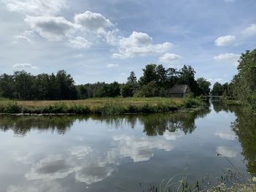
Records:
<instances>
[{"instance_id":1,"label":"entire blue sky with scattered white clouds above the trees","mask_svg":"<svg viewBox=\"0 0 256 192\"><path fill-rule=\"evenodd\" d=\"M256 45L255 0L0 0L0 73L126 82L147 64L228 82Z\"/></svg>"}]
</instances>

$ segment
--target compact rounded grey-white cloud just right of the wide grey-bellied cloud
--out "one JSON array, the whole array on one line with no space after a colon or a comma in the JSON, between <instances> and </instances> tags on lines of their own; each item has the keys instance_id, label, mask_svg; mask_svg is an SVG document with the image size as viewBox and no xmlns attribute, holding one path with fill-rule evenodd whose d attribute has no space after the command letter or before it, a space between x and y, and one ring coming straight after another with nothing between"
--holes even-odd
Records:
<instances>
[{"instance_id":1,"label":"compact rounded grey-white cloud just right of the wide grey-bellied cloud","mask_svg":"<svg viewBox=\"0 0 256 192\"><path fill-rule=\"evenodd\" d=\"M87 31L95 32L113 26L113 23L100 13L90 11L75 15L75 24Z\"/></svg>"}]
</instances>

